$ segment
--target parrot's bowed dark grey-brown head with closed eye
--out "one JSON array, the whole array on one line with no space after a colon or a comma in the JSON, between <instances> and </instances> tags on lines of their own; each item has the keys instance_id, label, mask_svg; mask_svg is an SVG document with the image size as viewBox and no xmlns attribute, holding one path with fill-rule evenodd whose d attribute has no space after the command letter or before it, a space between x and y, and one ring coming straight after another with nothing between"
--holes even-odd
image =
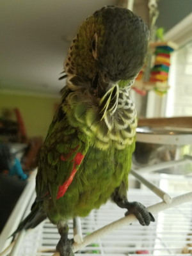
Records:
<instances>
[{"instance_id":1,"label":"parrot's bowed dark grey-brown head with closed eye","mask_svg":"<svg viewBox=\"0 0 192 256\"><path fill-rule=\"evenodd\" d=\"M67 75L92 81L102 97L114 84L131 84L148 49L148 29L130 10L104 6L79 27L65 61Z\"/></svg>"}]
</instances>

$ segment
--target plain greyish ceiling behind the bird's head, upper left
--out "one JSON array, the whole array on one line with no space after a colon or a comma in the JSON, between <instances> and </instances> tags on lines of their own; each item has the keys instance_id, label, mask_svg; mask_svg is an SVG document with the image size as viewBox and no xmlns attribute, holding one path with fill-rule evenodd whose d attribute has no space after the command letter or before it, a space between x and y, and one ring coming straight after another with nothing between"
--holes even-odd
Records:
<instances>
[{"instance_id":1,"label":"plain greyish ceiling behind the bird's head, upper left","mask_svg":"<svg viewBox=\"0 0 192 256\"><path fill-rule=\"evenodd\" d=\"M116 0L1 0L0 88L56 95L63 62L88 15Z\"/></svg>"}]
</instances>

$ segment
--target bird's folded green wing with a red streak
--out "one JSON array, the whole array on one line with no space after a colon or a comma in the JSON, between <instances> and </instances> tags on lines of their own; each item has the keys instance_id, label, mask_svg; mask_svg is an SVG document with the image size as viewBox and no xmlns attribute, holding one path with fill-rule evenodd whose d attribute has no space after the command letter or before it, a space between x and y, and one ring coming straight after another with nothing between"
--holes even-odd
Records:
<instances>
[{"instance_id":1,"label":"bird's folded green wing with a red streak","mask_svg":"<svg viewBox=\"0 0 192 256\"><path fill-rule=\"evenodd\" d=\"M68 93L70 90L66 97ZM87 136L70 125L64 106L65 99L52 120L40 153L37 200L51 197L56 202L65 195L89 147Z\"/></svg>"}]
</instances>

